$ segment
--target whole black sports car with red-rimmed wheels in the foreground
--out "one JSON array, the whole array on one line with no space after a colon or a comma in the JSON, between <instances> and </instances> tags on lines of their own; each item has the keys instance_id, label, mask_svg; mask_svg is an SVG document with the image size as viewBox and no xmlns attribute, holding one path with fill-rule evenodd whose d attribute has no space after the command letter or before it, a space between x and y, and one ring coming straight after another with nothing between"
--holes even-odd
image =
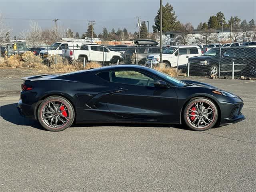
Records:
<instances>
[{"instance_id":1,"label":"whole black sports car with red-rimmed wheels in the foreground","mask_svg":"<svg viewBox=\"0 0 256 192\"><path fill-rule=\"evenodd\" d=\"M50 131L76 123L182 124L192 130L244 120L243 100L201 82L136 65L23 78L18 110Z\"/></svg>"}]
</instances>

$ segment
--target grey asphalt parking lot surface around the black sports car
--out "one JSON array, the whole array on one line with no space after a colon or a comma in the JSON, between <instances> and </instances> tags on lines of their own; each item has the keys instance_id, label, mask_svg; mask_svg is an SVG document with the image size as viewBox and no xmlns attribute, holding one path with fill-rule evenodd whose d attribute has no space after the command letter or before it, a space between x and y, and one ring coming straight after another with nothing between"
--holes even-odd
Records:
<instances>
[{"instance_id":1,"label":"grey asphalt parking lot surface around the black sports car","mask_svg":"<svg viewBox=\"0 0 256 192\"><path fill-rule=\"evenodd\" d=\"M16 109L20 77L32 72L2 72L0 191L256 191L256 80L192 78L244 100L246 120L237 124L205 132L140 124L49 132Z\"/></svg>"}]
</instances>

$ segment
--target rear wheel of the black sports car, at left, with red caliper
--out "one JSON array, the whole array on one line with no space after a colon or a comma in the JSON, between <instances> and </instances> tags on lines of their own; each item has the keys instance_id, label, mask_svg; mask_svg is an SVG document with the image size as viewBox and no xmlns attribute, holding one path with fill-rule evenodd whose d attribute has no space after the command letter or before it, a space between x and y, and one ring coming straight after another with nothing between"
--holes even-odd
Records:
<instances>
[{"instance_id":1,"label":"rear wheel of the black sports car, at left, with red caliper","mask_svg":"<svg viewBox=\"0 0 256 192\"><path fill-rule=\"evenodd\" d=\"M68 100L60 96L50 96L39 105L37 118L45 129L63 131L72 125L75 113Z\"/></svg>"}]
</instances>

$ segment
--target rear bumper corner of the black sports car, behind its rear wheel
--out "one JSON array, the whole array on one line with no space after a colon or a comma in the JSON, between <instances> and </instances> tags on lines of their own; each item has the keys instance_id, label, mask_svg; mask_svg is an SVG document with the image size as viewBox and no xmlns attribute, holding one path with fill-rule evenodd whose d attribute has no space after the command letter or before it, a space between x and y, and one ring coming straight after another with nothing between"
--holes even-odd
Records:
<instances>
[{"instance_id":1,"label":"rear bumper corner of the black sports car, behind its rear wheel","mask_svg":"<svg viewBox=\"0 0 256 192\"><path fill-rule=\"evenodd\" d=\"M35 115L36 106L37 106L36 104L32 104L32 105L24 104L22 103L22 100L19 100L17 109L21 116L30 118L30 119L36 119L36 115Z\"/></svg>"}]
</instances>

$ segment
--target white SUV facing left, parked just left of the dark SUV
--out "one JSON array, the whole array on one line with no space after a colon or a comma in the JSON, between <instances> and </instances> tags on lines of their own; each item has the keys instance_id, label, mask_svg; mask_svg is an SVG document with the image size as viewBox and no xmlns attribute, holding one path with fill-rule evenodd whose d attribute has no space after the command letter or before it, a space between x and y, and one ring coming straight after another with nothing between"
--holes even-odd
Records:
<instances>
[{"instance_id":1,"label":"white SUV facing left, parked just left of the dark SUV","mask_svg":"<svg viewBox=\"0 0 256 192\"><path fill-rule=\"evenodd\" d=\"M166 64L166 67L177 67L177 65L179 67L185 67L188 63L188 58L201 55L202 51L198 46L170 46L162 53L162 62ZM146 58L146 65L150 66L151 62L153 65L156 65L159 61L160 54L148 55Z\"/></svg>"}]
</instances>

